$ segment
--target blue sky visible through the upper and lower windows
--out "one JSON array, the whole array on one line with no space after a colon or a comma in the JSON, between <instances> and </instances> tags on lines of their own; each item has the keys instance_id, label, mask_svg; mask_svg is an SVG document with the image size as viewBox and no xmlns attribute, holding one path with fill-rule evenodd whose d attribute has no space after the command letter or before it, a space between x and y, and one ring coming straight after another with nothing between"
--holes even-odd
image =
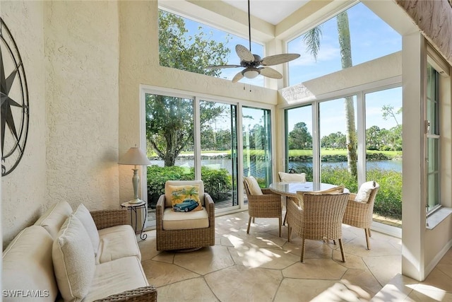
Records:
<instances>
[{"instance_id":1,"label":"blue sky visible through the upper and lower windows","mask_svg":"<svg viewBox=\"0 0 452 302\"><path fill-rule=\"evenodd\" d=\"M352 63L353 65L361 64L378 57L383 57L393 52L398 52L402 49L402 38L389 25L384 23L378 16L359 3L347 10L350 40L352 45ZM213 40L225 42L225 33L211 28L207 25L196 23L189 19L185 19L186 28L192 33L197 32L198 26L202 26L203 30L212 33ZM287 52L299 53L301 56L289 63L290 69L290 85L302 83L309 79L315 79L319 76L331 74L332 72L342 69L340 63L340 47L338 42L338 30L336 25L336 18L331 18L321 25L322 38L320 51L317 60L306 52L306 45L302 41L302 37L297 37L288 42ZM247 35L248 33L246 33ZM251 38L253 32L251 30ZM247 38L230 35L230 42L227 46L231 50L228 64L239 64L239 57L235 53L235 45L244 45L249 47ZM254 54L263 57L263 46L256 43L251 44L251 50ZM232 77L241 71L242 68L222 69L221 78L232 79ZM263 86L263 76L258 76L256 79L242 79L237 83L249 83L256 86ZM388 91L381 91L379 93L371 93L367 95L367 124L366 127L377 125L380 128L390 129L396 126L396 122L391 120L383 120L381 115L381 107L383 105L393 105L394 110L402 105L401 88L391 89ZM321 105L322 127L321 135L328 135L332 132L345 133L345 118L343 115L343 100L331 101ZM298 110L297 110L298 111ZM306 110L299 110L304 112ZM297 119L289 121L289 129L293 129L293 125L299 122L299 119L306 121L311 120L310 113L306 116L297 115ZM339 122L343 121L343 122ZM402 117L398 117L398 122L402 122ZM308 124L308 123L307 123ZM308 127L310 128L310 127ZM311 129L309 129L311 132Z\"/></svg>"}]
</instances>

